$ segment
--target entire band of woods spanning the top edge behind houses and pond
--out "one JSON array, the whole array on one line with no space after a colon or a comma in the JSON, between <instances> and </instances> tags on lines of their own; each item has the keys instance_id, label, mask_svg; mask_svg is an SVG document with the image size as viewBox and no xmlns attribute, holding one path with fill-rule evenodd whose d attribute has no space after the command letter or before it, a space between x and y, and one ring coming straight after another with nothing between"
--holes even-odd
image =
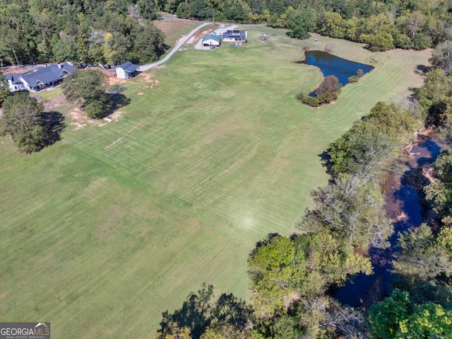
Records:
<instances>
[{"instance_id":1,"label":"entire band of woods spanning the top edge behind houses and pond","mask_svg":"<svg viewBox=\"0 0 452 339\"><path fill-rule=\"evenodd\" d=\"M364 42L369 50L434 47L451 38L447 1L75 0L0 1L0 65L32 62L138 64L165 52L152 19L267 23L293 38L309 31Z\"/></svg>"}]
</instances>

